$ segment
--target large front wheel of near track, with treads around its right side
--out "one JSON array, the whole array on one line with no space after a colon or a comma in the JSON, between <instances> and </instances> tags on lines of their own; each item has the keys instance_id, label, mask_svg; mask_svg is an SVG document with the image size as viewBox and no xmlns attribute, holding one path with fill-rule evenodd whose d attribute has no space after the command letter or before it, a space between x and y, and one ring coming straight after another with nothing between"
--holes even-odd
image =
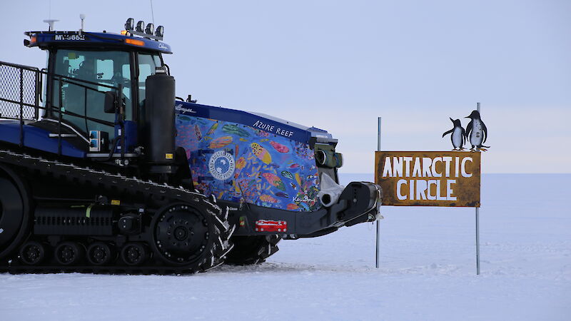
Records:
<instances>
[{"instance_id":1,"label":"large front wheel of near track, with treads around its right side","mask_svg":"<svg viewBox=\"0 0 571 321\"><path fill-rule=\"evenodd\" d=\"M215 200L196 197L195 203L176 203L158 210L151 226L153 251L164 263L182 271L203 272L224 262L233 248L228 209Z\"/></svg>"}]
</instances>

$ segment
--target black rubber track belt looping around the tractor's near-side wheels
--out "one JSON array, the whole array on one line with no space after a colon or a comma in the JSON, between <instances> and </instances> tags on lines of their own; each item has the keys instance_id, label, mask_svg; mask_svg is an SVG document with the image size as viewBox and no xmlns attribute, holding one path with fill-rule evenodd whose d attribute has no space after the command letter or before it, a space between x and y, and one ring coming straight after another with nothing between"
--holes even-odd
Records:
<instances>
[{"instance_id":1,"label":"black rubber track belt looping around the tractor's near-side wheels","mask_svg":"<svg viewBox=\"0 0 571 321\"><path fill-rule=\"evenodd\" d=\"M174 202L184 202L195 204L197 208L204 209L205 213L213 216L216 225L218 239L211 248L211 253L201 263L190 263L183 266L33 266L33 265L4 265L0 263L0 272L11 273L51 273L51 272L96 272L96 273L127 273L127 274L183 274L194 272L206 272L213 267L223 264L223 260L228 252L233 248L230 238L234 231L233 226L228 223L228 208L222 210L216 205L215 198L187 190L181 187L155 183L151 180L145 181L138 178L128 178L120 174L108 173L104 170L96 170L89 167L79 167L71 163L61 163L49 161L44 158L29 156L26 154L14 153L12 151L0 150L0 163L6 163L19 169L36 171L42 174L51 173L54 178L64 178L73 183L91 183L94 186L101 186L106 190L145 195L146 198L154 196L158 203L168 204ZM45 174L44 174L45 175ZM202 203L202 204L201 204ZM202 205L202 207L201 207ZM205 208L206 206L206 208ZM151 210L156 210L153 208ZM148 209L147 209L148 210ZM156 214L154 214L156 215ZM146 231L152 233L152 231ZM152 251L151 251L152 252ZM14 260L14 259L13 259ZM4 266L3 266L4 265Z\"/></svg>"}]
</instances>

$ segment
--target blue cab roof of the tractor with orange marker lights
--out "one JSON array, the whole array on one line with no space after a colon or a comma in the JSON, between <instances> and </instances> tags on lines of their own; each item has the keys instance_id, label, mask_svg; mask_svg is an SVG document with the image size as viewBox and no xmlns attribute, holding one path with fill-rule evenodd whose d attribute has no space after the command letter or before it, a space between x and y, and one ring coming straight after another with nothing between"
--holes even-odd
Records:
<instances>
[{"instance_id":1,"label":"blue cab roof of the tractor with orange marker lights","mask_svg":"<svg viewBox=\"0 0 571 321\"><path fill-rule=\"evenodd\" d=\"M135 37L130 33L112 34L103 32L86 31L27 31L24 34L30 36L30 40L24 40L24 45L29 47L38 46L41 49L59 47L118 47L122 49L143 49L159 51L163 54L172 54L171 46L162 41Z\"/></svg>"}]
</instances>

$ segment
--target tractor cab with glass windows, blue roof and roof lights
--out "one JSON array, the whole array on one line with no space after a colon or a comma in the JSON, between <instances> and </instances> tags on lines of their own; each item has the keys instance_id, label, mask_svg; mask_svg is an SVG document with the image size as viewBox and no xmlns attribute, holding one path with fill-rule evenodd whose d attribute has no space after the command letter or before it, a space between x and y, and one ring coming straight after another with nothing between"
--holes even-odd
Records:
<instances>
[{"instance_id":1,"label":"tractor cab with glass windows, blue roof and roof lights","mask_svg":"<svg viewBox=\"0 0 571 321\"><path fill-rule=\"evenodd\" d=\"M166 73L162 55L171 54L161 41L162 26L154 33L153 24L143 27L143 21L134 26L128 19L121 34L51 28L26 32L30 39L25 46L48 53L39 75L36 126L57 132L87 157L109 151L133 156L145 121L146 79Z\"/></svg>"}]
</instances>

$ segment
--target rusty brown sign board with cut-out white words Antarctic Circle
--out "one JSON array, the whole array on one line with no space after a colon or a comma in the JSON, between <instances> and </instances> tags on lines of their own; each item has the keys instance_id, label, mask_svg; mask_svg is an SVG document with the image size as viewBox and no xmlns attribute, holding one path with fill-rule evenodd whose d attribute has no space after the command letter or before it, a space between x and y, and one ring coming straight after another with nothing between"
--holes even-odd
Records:
<instances>
[{"instance_id":1,"label":"rusty brown sign board with cut-out white words Antarctic Circle","mask_svg":"<svg viewBox=\"0 0 571 321\"><path fill-rule=\"evenodd\" d=\"M480 152L378 151L383 205L480 207Z\"/></svg>"}]
</instances>

